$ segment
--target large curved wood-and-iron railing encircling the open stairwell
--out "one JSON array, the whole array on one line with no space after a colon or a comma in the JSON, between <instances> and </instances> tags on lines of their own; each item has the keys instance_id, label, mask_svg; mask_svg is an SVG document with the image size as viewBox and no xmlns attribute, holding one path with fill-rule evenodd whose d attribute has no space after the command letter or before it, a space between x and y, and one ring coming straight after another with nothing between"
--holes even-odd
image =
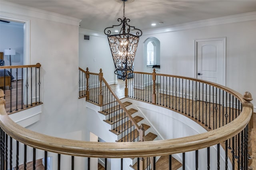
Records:
<instances>
[{"instance_id":1,"label":"large curved wood-and-iron railing encircling the open stairwell","mask_svg":"<svg viewBox=\"0 0 256 170\"><path fill-rule=\"evenodd\" d=\"M87 75L90 73L86 73ZM86 75L86 76L87 76ZM94 75L94 74L92 74ZM90 84L90 77L87 76L88 78L86 82L86 84ZM135 77L135 76L134 76ZM153 76L154 77L154 76ZM171 77L171 76L170 76ZM212 104L210 100L209 104L211 103L211 107L215 106L215 104L219 104L219 105L223 105L222 107L225 107L226 109L224 109L224 113L229 115L231 113L233 113L232 109L234 110L234 113L236 113L237 111L237 116L234 118L223 118L224 121L221 121L220 126L215 126L216 125L216 121L214 121L213 123L213 119L211 118L209 119L205 119L206 114L207 117L211 117L208 114L212 114L211 110L210 113L207 112L207 110L209 109L209 106L207 106L207 110L206 113L204 113L204 119L201 118L202 113L204 112L203 109L200 109L202 111L202 113L200 114L200 120L202 122L202 120L204 120L204 124L203 126L206 127L205 123L207 121L207 128L209 131L206 133L202 133L202 134L198 134L198 135L193 135L193 136L189 136L189 137L182 137L182 138L177 138L177 139L167 139L167 140L159 140L159 141L144 141L144 142L118 142L118 143L98 143L98 142L87 142L87 141L75 141L75 140L70 140L70 139L61 139L61 138L57 138L57 137L51 137L51 136L47 136L47 135L42 135L33 131L30 131L28 129L25 129L19 125L17 125L16 123L14 123L9 116L6 114L6 110L4 109L4 93L2 90L0 90L0 127L1 127L1 131L0 131L0 147L1 147L1 152L0 152L0 158L1 158L1 170L2 169L11 169L13 167L18 167L19 164L21 164L20 162L24 162L24 167L26 167L26 162L27 160L29 160L30 158L33 160L33 166L35 167L35 162L36 162L36 158L40 157L39 154L41 150L43 150L44 152L44 165L45 167L47 167L47 156L49 154L49 152L53 152L51 153L51 155L54 155L55 153L55 157L56 157L56 162L54 162L54 164L56 164L58 166L58 169L61 169L61 167L63 166L63 162L61 162L61 155L62 154L66 154L66 155L70 155L70 169L74 169L76 167L76 162L75 160L78 157L84 157L84 161L85 164L88 168L88 170L90 170L90 158L105 158L105 169L107 170L107 159L108 158L120 158L119 164L120 164L120 169L123 169L123 158L146 158L146 157L152 157L153 161L151 161L151 168L152 169L156 169L156 156L165 156L165 155L169 155L169 157L171 158L171 156L173 154L182 154L182 166L183 169L186 169L186 166L188 164L187 161L188 158L192 157L193 162L194 163L194 167L189 167L192 169L200 169L200 164L205 164L207 169L218 169L218 170L227 170L227 169L252 169L251 167L251 163L252 163L252 159L251 159L251 155L252 155L252 148L250 143L252 142L252 137L251 137L251 130L253 127L253 122L252 122L252 104L250 103L250 101L252 100L252 97L250 96L250 93L245 93L244 96L238 94L237 92L228 89L226 87L223 86L219 86L217 84L214 83L209 83L206 81L202 81L202 80L197 80L197 79L191 79L191 78L184 78L184 77L178 77L177 78L182 78L182 79L186 79L188 84L194 84L195 82L201 82L203 83L202 85L206 85L212 88L212 86L214 86L214 88L220 89L221 90L221 94L223 94L222 90L224 91L224 95L226 94L226 92L228 93L227 96L224 96L224 102L221 103L214 103ZM88 80L89 79L89 80ZM153 82L154 82L154 78ZM168 79L168 78L167 78ZM98 82L96 80L99 80ZM103 78L103 74L100 71L100 73L98 73L98 78L94 80L95 82L92 83L93 86L91 87L97 87L95 84L99 84L99 89L94 89L95 91L92 93L92 95L90 95L90 88L87 89L86 87L86 98L87 101L91 100L90 102L95 102L96 104L100 105L100 106L104 106L104 104L106 103L107 105L109 105L107 102L104 102L103 98L105 98L107 92L104 91L104 88L106 86L106 88L110 88L110 93L116 98L116 96L114 95L114 92L111 92L111 87L109 87L107 85L107 82L104 80ZM132 79L130 79L132 80ZM157 78L155 79L157 80ZM172 80L172 78L171 78ZM190 83L188 82L188 80L190 80ZM128 80L129 81L129 80ZM184 81L184 80L183 80ZM102 82L102 83L101 83ZM103 83L104 82L104 83ZM162 80L161 80L162 82ZM182 82L182 81L181 81ZM166 83L166 82L165 82ZM105 85L104 85L105 84ZM135 83L134 83L135 84ZM159 83L160 84L160 83ZM170 83L172 84L172 83ZM174 84L176 84L176 82L174 82ZM177 81L178 84L178 81ZM191 85L192 85L191 84ZM95 86L94 86L95 85ZM131 84L132 85L132 84ZM153 83L154 86L154 83ZM197 87L199 85L196 85ZM201 85L200 85L201 86ZM157 86L156 86L157 87ZM160 87L160 86L159 86ZM191 87L190 90L195 91L194 89L195 85L193 85L193 88ZM208 88L207 87L207 88ZM100 90L100 88L102 90ZM144 88L141 87L136 87L132 85L132 88L134 90L143 90ZM126 89L125 92L127 92L127 96L128 96L128 84L126 85ZM159 93L160 88L158 88L158 91L156 90L155 95L157 97L157 95L161 96L163 94L156 94ZM175 88L176 89L176 88ZM178 87L177 87L178 89ZM205 89L205 88L204 88ZM88 92L87 92L88 90ZM189 90L189 89L188 89ZM146 91L145 91L146 92ZM152 91L154 94L154 88ZM207 92L207 90L200 90L200 92ZM209 91L210 92L210 91ZM171 93L171 92L170 92ZM89 95L88 95L89 94ZM143 94L143 92L139 92L139 94ZM148 92L147 92L148 94ZM186 93L185 93L186 94ZM188 94L188 92L187 92ZM207 94L211 94L208 93ZM227 102L226 104L226 98L228 99L228 101L232 101L229 100L229 94L230 99L232 99L232 96L234 96L234 99L236 98L237 101L239 101L239 109L238 109L238 102L237 102L237 106L235 106L235 104L230 104L230 106L234 105L234 107L232 107L232 109L230 108L229 111L229 103ZM95 100L94 100L94 96ZM180 94L181 95L181 94ZM192 95L192 94L190 94ZM143 96L143 95L142 95ZM159 97L158 96L158 97ZM169 95L170 96L170 95ZM166 98L170 98L172 96L169 97L168 95L166 95ZM174 95L176 97L176 94ZM183 95L182 95L183 96ZM108 99L108 102L112 101L112 96L108 96L108 98L110 98L110 100ZM193 94L193 98L194 98L194 94ZM199 98L199 96L198 96ZM208 99L208 97L206 97ZM140 97L141 99L141 97ZM140 100L137 99L137 100ZM156 101L157 104L157 98L154 99L154 96L152 98L152 103L154 103L154 101ZM186 99L186 96L185 96ZM201 99L201 98L200 98ZM119 103L119 99L116 98L117 102ZM145 100L145 98L144 98ZM162 101L163 99L161 99ZM178 94L177 94L177 98L174 100L173 103L177 104L179 103L178 100L182 101L182 98L180 96L180 99L178 98ZM184 100L184 99L183 99ZM188 100L188 99L187 99ZM192 99L191 99L192 100ZM206 99L205 99L206 100ZM209 101L207 100L207 101ZM223 97L221 98L220 101L223 100ZM142 97L142 101L143 101L143 97ZM150 100L147 100L150 101ZM160 101L160 99L158 99L158 101ZM216 101L216 100L214 100ZM235 100L234 100L235 101ZM192 102L192 101L189 101ZM195 101L193 101L193 111L195 111L195 107L198 109L199 107L199 101L196 100L197 104L194 103ZM203 101L205 103L205 101ZM150 102L149 102L150 103ZM168 104L166 106L166 99L164 98L164 107L169 108ZM169 102L169 100L167 101L167 103L172 103ZM181 102L180 102L181 103ZM235 102L234 102L235 103ZM163 102L158 102L158 105L161 106L163 105ZM186 105L186 104L184 104ZM201 106L202 104L200 104ZM207 104L208 105L208 104ZM122 104L120 105L120 107L124 107L122 106ZM206 106L204 106L205 108ZM217 106L218 107L218 106ZM227 109L228 107L228 109ZM109 107L108 109L110 109L111 107ZM188 114L190 114L190 116L188 117L192 117L192 113L193 111L188 111L187 115L185 115L185 112L183 110L182 113L182 107L180 107L180 112L178 111L179 107L177 106L177 110L176 110L176 106L174 105L173 109L175 111L177 111L178 113L184 114L184 116L188 116ZM220 106L219 106L220 108ZM172 105L170 106L170 109L172 109ZM187 108L188 109L188 108ZM124 112L126 112L126 114L129 114L128 111L125 110L125 108L123 108ZM238 114L239 111L239 114ZM193 113L193 118L195 119L196 113ZM224 115L225 117L225 115ZM197 116L197 120L199 119L199 115ZM196 119L195 119L196 120ZM215 120L215 119L214 119ZM221 117L222 120L222 117ZM199 120L198 120L199 121ZM210 121L210 122L209 122ZM227 123L226 123L227 121ZM226 123L226 125L222 126L222 123ZM213 123L213 124L212 124ZM209 125L211 124L211 129L209 129ZM142 135L143 133L140 133L139 135ZM229 142L231 141L231 142ZM16 144L16 145L15 145ZM216 155L215 154L211 154L212 153L212 146L216 145ZM229 147L231 149L229 149ZM27 150L29 150L28 148L30 148L32 150L32 152L28 153ZM206 150L206 154L204 154L204 151ZM22 156L19 155L19 153L21 153L22 151ZM224 151L222 153L222 151ZM202 154L202 155L201 155ZM192 155L192 156L191 156ZM190 156L190 157L188 157ZM220 157L223 156L224 157L224 162L220 161ZM29 158L28 158L29 157ZM203 159L200 159L202 158ZM58 160L58 161L57 161ZM216 160L216 162L213 160ZM88 162L88 163L87 163ZM171 161L170 161L171 163ZM138 164L139 165L139 164ZM169 164L169 167L171 169L171 166ZM141 166L138 166L138 169L142 169Z\"/></svg>"}]
</instances>

